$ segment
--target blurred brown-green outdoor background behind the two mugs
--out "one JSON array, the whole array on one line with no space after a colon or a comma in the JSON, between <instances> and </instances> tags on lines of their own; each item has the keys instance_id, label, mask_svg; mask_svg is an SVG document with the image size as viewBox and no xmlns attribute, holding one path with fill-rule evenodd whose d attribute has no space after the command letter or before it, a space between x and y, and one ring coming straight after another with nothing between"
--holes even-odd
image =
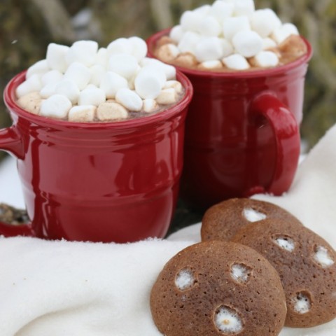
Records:
<instances>
[{"instance_id":1,"label":"blurred brown-green outdoor background behind the two mugs","mask_svg":"<svg viewBox=\"0 0 336 336\"><path fill-rule=\"evenodd\" d=\"M1 0L0 91L16 73L45 58L48 43L94 39L106 46L122 36L147 38L179 22L183 11L212 0ZM336 123L336 1L255 0L293 22L314 48L304 103L307 148ZM1 94L2 95L2 94ZM0 128L10 125L1 99ZM0 160L3 153L0 153Z\"/></svg>"}]
</instances>

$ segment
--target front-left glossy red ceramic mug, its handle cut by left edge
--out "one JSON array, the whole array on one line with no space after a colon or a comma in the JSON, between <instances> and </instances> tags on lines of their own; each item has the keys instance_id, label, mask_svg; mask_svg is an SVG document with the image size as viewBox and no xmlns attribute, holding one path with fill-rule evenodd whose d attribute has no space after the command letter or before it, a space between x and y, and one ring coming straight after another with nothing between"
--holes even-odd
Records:
<instances>
[{"instance_id":1,"label":"front-left glossy red ceramic mug, its handle cut by left edge","mask_svg":"<svg viewBox=\"0 0 336 336\"><path fill-rule=\"evenodd\" d=\"M193 95L152 116L116 123L71 123L35 116L4 91L13 119L0 148L18 158L31 225L0 224L5 236L76 241L137 241L164 237L174 213L183 165L184 124Z\"/></svg>"}]
</instances>

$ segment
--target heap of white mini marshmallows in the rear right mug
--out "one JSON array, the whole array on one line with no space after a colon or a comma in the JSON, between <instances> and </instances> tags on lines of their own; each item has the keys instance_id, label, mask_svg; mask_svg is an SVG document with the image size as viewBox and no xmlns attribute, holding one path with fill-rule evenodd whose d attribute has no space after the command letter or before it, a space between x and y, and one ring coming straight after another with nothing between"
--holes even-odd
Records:
<instances>
[{"instance_id":1,"label":"heap of white mini marshmallows in the rear right mug","mask_svg":"<svg viewBox=\"0 0 336 336\"><path fill-rule=\"evenodd\" d=\"M167 43L162 48L171 61L190 52L206 69L224 64L229 69L245 70L250 67L250 57L255 66L278 65L278 55L268 49L293 34L299 34L295 25L282 24L271 9L255 10L253 0L217 0L212 6L184 12L180 25L170 32L176 44Z\"/></svg>"}]
</instances>

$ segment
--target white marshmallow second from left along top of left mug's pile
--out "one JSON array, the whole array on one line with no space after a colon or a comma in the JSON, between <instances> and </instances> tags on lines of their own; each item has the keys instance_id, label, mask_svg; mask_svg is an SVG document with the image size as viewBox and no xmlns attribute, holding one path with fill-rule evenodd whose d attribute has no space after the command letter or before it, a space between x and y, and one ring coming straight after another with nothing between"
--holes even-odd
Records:
<instances>
[{"instance_id":1,"label":"white marshmallow second from left along top of left mug's pile","mask_svg":"<svg viewBox=\"0 0 336 336\"><path fill-rule=\"evenodd\" d=\"M97 51L98 43L96 41L76 41L66 52L66 64L78 62L85 66L91 66L94 64Z\"/></svg>"}]
</instances>

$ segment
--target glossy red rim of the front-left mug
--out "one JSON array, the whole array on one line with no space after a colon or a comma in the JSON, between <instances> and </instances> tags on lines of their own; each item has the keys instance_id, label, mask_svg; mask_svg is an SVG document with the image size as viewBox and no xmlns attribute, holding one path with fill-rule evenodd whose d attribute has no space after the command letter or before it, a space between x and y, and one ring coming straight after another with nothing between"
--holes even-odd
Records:
<instances>
[{"instance_id":1,"label":"glossy red rim of the front-left mug","mask_svg":"<svg viewBox=\"0 0 336 336\"><path fill-rule=\"evenodd\" d=\"M176 80L180 81L186 92L183 95L182 99L174 106L171 106L168 109L159 113L154 113L151 116L143 116L123 121L79 123L69 120L38 116L18 106L18 104L16 104L15 102L15 89L18 87L18 85L20 85L20 83L25 80L26 73L27 70L22 71L16 74L12 79L10 79L5 87L5 90L3 90L3 101L6 104L6 107L10 111L10 113L15 113L18 116L25 118L31 122L34 122L38 125L45 125L47 127L71 127L73 129L99 129L103 127L115 130L141 127L151 125L153 123L160 123L161 121L169 120L170 118L178 115L184 109L186 109L186 107L188 107L188 104L190 104L190 101L193 98L193 85L191 84L189 78L184 73L176 69Z\"/></svg>"}]
</instances>

